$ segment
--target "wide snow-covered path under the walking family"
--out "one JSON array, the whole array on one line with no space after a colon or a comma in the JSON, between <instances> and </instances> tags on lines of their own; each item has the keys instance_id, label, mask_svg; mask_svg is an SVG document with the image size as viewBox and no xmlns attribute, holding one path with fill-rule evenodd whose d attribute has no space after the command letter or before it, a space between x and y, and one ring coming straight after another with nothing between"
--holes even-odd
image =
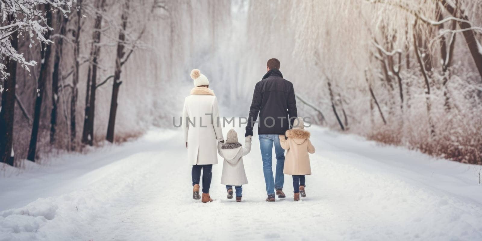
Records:
<instances>
[{"instance_id":1,"label":"wide snow-covered path under the walking family","mask_svg":"<svg viewBox=\"0 0 482 241\"><path fill-rule=\"evenodd\" d=\"M250 183L243 201L226 199L221 159L213 168L214 202L192 200L180 131L153 130L0 177L0 241L482 240L482 186L472 165L308 130L317 152L302 201L293 201L289 175L288 197L264 201L257 135L244 159Z\"/></svg>"}]
</instances>

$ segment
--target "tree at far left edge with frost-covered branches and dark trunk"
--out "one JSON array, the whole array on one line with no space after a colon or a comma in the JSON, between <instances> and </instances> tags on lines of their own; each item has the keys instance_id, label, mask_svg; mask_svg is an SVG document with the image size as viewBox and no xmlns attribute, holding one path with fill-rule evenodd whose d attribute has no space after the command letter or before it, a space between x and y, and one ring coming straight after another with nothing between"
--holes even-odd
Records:
<instances>
[{"instance_id":1,"label":"tree at far left edge with frost-covered branches and dark trunk","mask_svg":"<svg viewBox=\"0 0 482 241\"><path fill-rule=\"evenodd\" d=\"M35 40L45 49L52 44L50 40L50 27L52 11L60 11L67 14L70 11L72 0L2 0L0 6L0 54L2 60L8 63L0 63L0 90L2 93L2 109L0 113L0 157L6 161L12 153L13 138L13 112L16 87L16 63L29 71L29 66L37 64L36 61L26 60L24 54L18 53L18 40L27 37L32 43ZM42 48L42 51L44 49ZM46 53L49 51L45 51ZM43 56L44 57L44 56ZM48 57L47 57L48 58ZM42 67L44 62L41 63ZM45 69L45 68L44 68ZM45 80L46 73L40 75L39 81ZM10 76L10 77L9 77ZM3 88L3 82L5 86ZM13 163L10 163L13 164Z\"/></svg>"}]
</instances>

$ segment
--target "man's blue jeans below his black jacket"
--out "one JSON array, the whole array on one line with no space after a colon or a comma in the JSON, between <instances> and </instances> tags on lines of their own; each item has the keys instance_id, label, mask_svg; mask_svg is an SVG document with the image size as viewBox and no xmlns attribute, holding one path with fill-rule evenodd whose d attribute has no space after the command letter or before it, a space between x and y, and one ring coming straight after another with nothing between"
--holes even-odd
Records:
<instances>
[{"instance_id":1,"label":"man's blue jeans below his black jacket","mask_svg":"<svg viewBox=\"0 0 482 241\"><path fill-rule=\"evenodd\" d=\"M276 153L276 174L273 178L272 158L273 144ZM280 138L278 134L260 134L259 147L261 148L261 157L263 159L263 174L265 175L266 192L268 196L274 196L275 188L280 190L284 184L284 150L281 148Z\"/></svg>"}]
</instances>

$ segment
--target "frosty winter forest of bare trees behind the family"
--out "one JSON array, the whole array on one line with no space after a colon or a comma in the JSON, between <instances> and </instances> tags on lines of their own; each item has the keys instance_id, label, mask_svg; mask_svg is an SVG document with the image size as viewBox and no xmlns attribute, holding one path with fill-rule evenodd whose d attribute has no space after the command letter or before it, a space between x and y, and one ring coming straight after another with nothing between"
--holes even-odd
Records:
<instances>
[{"instance_id":1,"label":"frosty winter forest of bare trees behind the family","mask_svg":"<svg viewBox=\"0 0 482 241\"><path fill-rule=\"evenodd\" d=\"M481 13L480 0L2 0L1 160L172 127L193 67L226 116L247 115L277 57L315 123L482 163Z\"/></svg>"}]
</instances>

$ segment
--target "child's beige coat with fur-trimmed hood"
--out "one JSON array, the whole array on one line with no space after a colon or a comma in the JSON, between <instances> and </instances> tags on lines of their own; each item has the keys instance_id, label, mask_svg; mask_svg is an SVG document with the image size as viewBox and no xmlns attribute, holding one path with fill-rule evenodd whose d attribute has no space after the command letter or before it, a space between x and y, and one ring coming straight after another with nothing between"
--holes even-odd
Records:
<instances>
[{"instance_id":1,"label":"child's beige coat with fur-trimmed hood","mask_svg":"<svg viewBox=\"0 0 482 241\"><path fill-rule=\"evenodd\" d=\"M309 132L301 129L292 129L280 135L281 147L286 151L284 160L284 174L289 175L310 175L309 153L315 153L315 147L309 141Z\"/></svg>"}]
</instances>

